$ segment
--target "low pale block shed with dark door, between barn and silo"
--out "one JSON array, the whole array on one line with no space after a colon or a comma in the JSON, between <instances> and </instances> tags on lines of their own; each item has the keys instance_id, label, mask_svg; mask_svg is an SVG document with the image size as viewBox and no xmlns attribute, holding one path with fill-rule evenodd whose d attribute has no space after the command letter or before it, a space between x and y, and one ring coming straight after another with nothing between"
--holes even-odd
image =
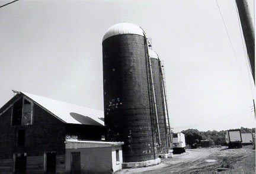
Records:
<instances>
[{"instance_id":1,"label":"low pale block shed with dark door, between barn and silo","mask_svg":"<svg viewBox=\"0 0 256 174\"><path fill-rule=\"evenodd\" d=\"M123 142L66 141L66 173L110 173L121 169Z\"/></svg>"}]
</instances>

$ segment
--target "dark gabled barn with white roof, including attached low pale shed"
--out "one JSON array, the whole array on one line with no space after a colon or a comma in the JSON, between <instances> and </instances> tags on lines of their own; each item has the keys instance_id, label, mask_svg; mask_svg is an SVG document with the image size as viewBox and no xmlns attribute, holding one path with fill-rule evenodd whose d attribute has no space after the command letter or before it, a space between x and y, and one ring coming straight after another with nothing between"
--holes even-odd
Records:
<instances>
[{"instance_id":1,"label":"dark gabled barn with white roof, including attached low pale shed","mask_svg":"<svg viewBox=\"0 0 256 174\"><path fill-rule=\"evenodd\" d=\"M95 156L109 161L107 166L97 161L104 169L97 173L120 169L122 159L116 157L123 143L103 143L103 111L14 92L0 108L0 173L94 173L95 168L83 162L94 163Z\"/></svg>"}]
</instances>

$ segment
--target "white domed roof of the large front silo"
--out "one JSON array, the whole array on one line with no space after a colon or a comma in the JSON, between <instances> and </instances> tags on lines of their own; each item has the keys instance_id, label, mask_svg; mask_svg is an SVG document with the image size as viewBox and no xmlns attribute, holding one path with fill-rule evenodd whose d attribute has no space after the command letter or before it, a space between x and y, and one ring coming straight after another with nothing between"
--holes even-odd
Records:
<instances>
[{"instance_id":1,"label":"white domed roof of the large front silo","mask_svg":"<svg viewBox=\"0 0 256 174\"><path fill-rule=\"evenodd\" d=\"M122 22L108 28L108 30L104 34L103 41L108 37L119 34L137 34L140 36L144 36L143 30L139 26L129 22Z\"/></svg>"}]
</instances>

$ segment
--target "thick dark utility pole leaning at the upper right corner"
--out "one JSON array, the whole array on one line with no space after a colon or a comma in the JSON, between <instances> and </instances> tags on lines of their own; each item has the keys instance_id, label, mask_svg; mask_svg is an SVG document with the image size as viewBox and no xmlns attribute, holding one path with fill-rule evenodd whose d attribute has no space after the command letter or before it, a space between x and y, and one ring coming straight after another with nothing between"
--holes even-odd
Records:
<instances>
[{"instance_id":1,"label":"thick dark utility pole leaning at the upper right corner","mask_svg":"<svg viewBox=\"0 0 256 174\"><path fill-rule=\"evenodd\" d=\"M252 78L255 84L255 36L254 25L252 23L251 14L248 8L247 0L236 0L236 7L242 25L242 31L244 34L245 44L247 46L247 53L249 56L249 62L251 64Z\"/></svg>"}]
</instances>

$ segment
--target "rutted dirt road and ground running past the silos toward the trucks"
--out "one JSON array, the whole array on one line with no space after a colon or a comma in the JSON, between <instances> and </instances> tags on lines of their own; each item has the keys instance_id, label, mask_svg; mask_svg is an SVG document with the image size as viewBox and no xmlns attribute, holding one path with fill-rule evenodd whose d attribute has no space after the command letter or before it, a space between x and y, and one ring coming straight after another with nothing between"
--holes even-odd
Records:
<instances>
[{"instance_id":1,"label":"rutted dirt road and ground running past the silos toward the trucks","mask_svg":"<svg viewBox=\"0 0 256 174\"><path fill-rule=\"evenodd\" d=\"M222 172L217 172L224 168ZM162 159L161 164L136 169L123 169L121 173L255 173L255 150L209 148L187 149L173 158Z\"/></svg>"}]
</instances>

